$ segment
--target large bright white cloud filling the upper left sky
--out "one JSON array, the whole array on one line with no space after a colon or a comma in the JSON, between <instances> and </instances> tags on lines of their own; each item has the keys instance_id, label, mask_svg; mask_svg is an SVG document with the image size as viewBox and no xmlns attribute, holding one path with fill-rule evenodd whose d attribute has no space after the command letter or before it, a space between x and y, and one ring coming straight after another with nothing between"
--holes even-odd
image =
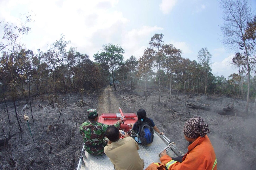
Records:
<instances>
[{"instance_id":1,"label":"large bright white cloud filling the upper left sky","mask_svg":"<svg viewBox=\"0 0 256 170\"><path fill-rule=\"evenodd\" d=\"M10 0L0 1L0 19L15 23L19 14L32 11L31 31L23 38L27 48L46 51L48 46L60 39L71 41L81 53L93 54L105 43L121 38L116 33L124 30L128 22L122 12L114 10L118 0L72 1L72 0ZM115 42L113 42L115 43ZM117 42L118 43L118 42Z\"/></svg>"}]
</instances>

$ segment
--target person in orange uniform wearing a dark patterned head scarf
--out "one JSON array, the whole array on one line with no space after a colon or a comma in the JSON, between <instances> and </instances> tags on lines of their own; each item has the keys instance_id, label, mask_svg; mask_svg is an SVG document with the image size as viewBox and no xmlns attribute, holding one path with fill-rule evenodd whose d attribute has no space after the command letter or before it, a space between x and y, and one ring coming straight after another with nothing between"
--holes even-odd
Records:
<instances>
[{"instance_id":1,"label":"person in orange uniform wearing a dark patterned head scarf","mask_svg":"<svg viewBox=\"0 0 256 170\"><path fill-rule=\"evenodd\" d=\"M185 139L192 144L188 146L188 152L182 162L174 161L164 150L161 153L161 163L151 163L146 170L217 170L214 148L206 135L210 132L208 124L198 116L185 123L183 132Z\"/></svg>"}]
</instances>

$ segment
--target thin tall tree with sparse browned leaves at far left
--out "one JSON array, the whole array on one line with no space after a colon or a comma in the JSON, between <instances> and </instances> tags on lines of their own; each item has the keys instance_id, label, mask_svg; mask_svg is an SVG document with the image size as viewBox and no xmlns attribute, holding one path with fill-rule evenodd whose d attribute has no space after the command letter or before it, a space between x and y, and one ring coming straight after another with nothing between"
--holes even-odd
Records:
<instances>
[{"instance_id":1,"label":"thin tall tree with sparse browned leaves at far left","mask_svg":"<svg viewBox=\"0 0 256 170\"><path fill-rule=\"evenodd\" d=\"M0 43L0 49L2 53L1 57L1 75L7 79L7 86L11 91L13 106L15 109L15 115L19 125L19 130L22 132L18 114L16 110L16 96L18 93L18 86L26 80L26 66L27 58L24 53L24 47L20 42L20 38L26 35L30 31L30 27L26 26L30 22L30 16L26 16L26 19L20 26L14 26L13 24L6 23L3 26L3 38Z\"/></svg>"}]
</instances>

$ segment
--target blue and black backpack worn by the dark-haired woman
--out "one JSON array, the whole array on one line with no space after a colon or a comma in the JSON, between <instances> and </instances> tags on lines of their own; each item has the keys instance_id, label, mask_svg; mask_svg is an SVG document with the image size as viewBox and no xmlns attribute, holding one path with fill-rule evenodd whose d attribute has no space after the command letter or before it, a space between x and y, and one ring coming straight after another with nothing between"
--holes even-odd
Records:
<instances>
[{"instance_id":1,"label":"blue and black backpack worn by the dark-haired woman","mask_svg":"<svg viewBox=\"0 0 256 170\"><path fill-rule=\"evenodd\" d=\"M138 137L142 143L142 145L148 145L153 142L154 139L154 130L148 122L142 122L142 125L139 126L139 134Z\"/></svg>"}]
</instances>

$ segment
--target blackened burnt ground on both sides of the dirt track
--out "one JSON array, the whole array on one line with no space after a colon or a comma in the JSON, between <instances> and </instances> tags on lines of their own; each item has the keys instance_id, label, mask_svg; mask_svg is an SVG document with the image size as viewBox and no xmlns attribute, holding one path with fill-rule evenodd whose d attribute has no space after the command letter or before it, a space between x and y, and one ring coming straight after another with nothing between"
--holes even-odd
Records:
<instances>
[{"instance_id":1,"label":"blackened burnt ground on both sides of the dirt track","mask_svg":"<svg viewBox=\"0 0 256 170\"><path fill-rule=\"evenodd\" d=\"M34 122L29 102L25 99L16 101L22 132L18 129L13 103L7 102L10 123L5 103L0 103L0 143L10 138L5 140L5 145L0 146L0 169L76 169L83 146L79 126L87 120L87 109L99 107L102 92L103 90L83 95L59 95L59 104L49 104L46 95L33 97L31 102ZM169 98L170 91L165 90L161 91L159 103L157 88L148 89L147 99L143 92L143 85L136 86L133 90L124 85L117 85L116 91L111 87L111 93L116 96L124 113L136 113L140 108L145 109L147 116L154 120L160 131L184 153L187 152L188 145L183 135L184 123L189 118L202 116L211 130L208 136L214 146L218 169L256 169L254 103L249 104L249 114L244 114L246 101L235 98L187 93L177 95L175 90ZM192 109L188 103L210 109ZM239 116L217 113L232 105ZM23 120L24 114L29 116L28 122Z\"/></svg>"}]
</instances>

